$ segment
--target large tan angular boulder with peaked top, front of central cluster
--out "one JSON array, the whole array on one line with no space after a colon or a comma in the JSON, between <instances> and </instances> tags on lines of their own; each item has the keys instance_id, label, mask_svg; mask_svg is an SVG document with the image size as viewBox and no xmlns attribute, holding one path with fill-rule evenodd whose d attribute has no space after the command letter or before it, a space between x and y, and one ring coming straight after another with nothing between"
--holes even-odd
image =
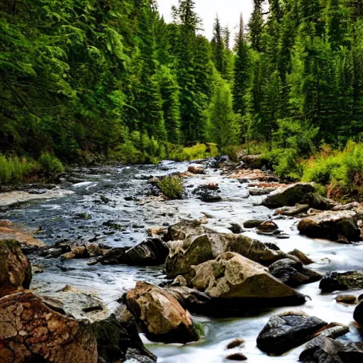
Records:
<instances>
[{"instance_id":1,"label":"large tan angular boulder with peaked top, front of central cluster","mask_svg":"<svg viewBox=\"0 0 363 363\"><path fill-rule=\"evenodd\" d=\"M305 302L305 296L282 284L266 267L233 252L192 266L187 279L212 298L263 301L271 306Z\"/></svg>"}]
</instances>

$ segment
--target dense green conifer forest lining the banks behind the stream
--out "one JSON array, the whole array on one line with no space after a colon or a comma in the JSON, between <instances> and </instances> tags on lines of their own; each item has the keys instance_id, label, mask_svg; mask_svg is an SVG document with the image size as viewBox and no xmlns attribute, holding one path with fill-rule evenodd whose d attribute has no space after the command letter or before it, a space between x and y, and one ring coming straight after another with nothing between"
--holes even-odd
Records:
<instances>
[{"instance_id":1,"label":"dense green conifer forest lining the banks behind the stream","mask_svg":"<svg viewBox=\"0 0 363 363\"><path fill-rule=\"evenodd\" d=\"M362 1L254 0L237 34L216 16L211 41L195 2L165 23L155 0L1 1L2 168L242 149L288 179L321 150L362 170ZM310 179L333 177L325 164Z\"/></svg>"}]
</instances>

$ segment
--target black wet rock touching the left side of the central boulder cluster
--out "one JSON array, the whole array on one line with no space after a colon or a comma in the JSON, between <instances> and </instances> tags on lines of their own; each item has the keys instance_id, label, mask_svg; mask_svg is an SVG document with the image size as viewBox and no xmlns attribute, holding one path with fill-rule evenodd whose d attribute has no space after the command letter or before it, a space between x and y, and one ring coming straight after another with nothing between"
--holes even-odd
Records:
<instances>
[{"instance_id":1,"label":"black wet rock touching the left side of the central boulder cluster","mask_svg":"<svg viewBox=\"0 0 363 363\"><path fill-rule=\"evenodd\" d=\"M126 252L128 264L157 266L164 264L169 255L169 247L160 238L147 238Z\"/></svg>"}]
</instances>

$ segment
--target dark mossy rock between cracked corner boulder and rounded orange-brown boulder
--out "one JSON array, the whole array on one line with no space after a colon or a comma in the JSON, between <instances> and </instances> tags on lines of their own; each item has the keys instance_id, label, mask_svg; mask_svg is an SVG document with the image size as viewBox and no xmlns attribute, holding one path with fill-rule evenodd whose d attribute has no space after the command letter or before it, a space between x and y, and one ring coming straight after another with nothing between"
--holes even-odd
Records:
<instances>
[{"instance_id":1,"label":"dark mossy rock between cracked corner boulder and rounded orange-brown boulder","mask_svg":"<svg viewBox=\"0 0 363 363\"><path fill-rule=\"evenodd\" d=\"M128 324L118 320L115 314L92 324L97 340L99 363L123 362L132 354L135 362L156 362L154 354L141 342L135 322Z\"/></svg>"}]
</instances>

